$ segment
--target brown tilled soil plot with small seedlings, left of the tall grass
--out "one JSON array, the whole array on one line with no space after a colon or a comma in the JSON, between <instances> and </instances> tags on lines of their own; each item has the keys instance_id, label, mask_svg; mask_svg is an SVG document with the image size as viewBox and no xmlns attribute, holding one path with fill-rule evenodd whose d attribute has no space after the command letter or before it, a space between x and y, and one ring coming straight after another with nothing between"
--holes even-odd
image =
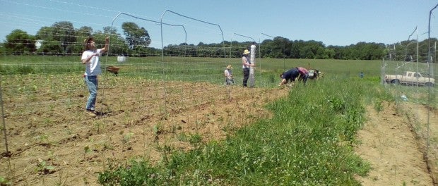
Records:
<instances>
[{"instance_id":1,"label":"brown tilled soil plot with small seedlings, left of the tall grass","mask_svg":"<svg viewBox=\"0 0 438 186\"><path fill-rule=\"evenodd\" d=\"M288 93L203 82L107 80L97 103L102 116L92 118L83 109L88 94L82 83L78 80L83 89L76 92L54 94L47 87L14 99L8 95L13 92L6 94L11 156L2 154L0 169L14 185L97 185L107 159L143 156L157 162L169 153L165 149L194 147L187 139L195 135L203 142L224 139L236 128L271 117L266 103Z\"/></svg>"}]
</instances>

